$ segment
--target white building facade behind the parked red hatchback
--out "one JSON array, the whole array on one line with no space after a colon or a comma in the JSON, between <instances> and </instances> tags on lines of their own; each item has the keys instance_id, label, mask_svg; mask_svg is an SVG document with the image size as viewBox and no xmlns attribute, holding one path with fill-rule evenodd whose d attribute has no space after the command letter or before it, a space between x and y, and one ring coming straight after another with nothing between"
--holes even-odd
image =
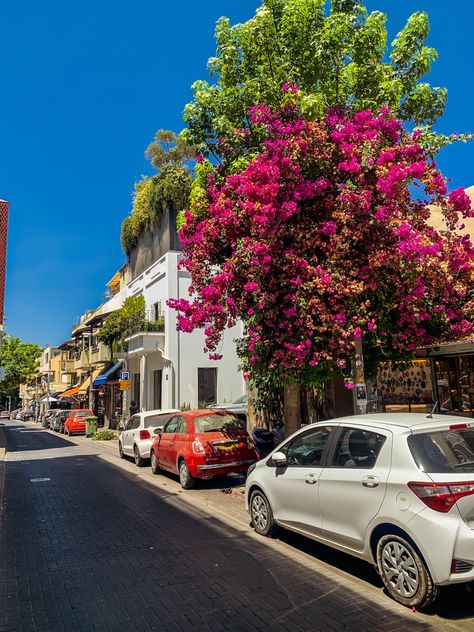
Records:
<instances>
[{"instance_id":1,"label":"white building facade behind the parked red hatchback","mask_svg":"<svg viewBox=\"0 0 474 632\"><path fill-rule=\"evenodd\" d=\"M132 331L127 339L131 374L127 399L134 400L139 410L196 408L231 402L245 393L235 345L242 334L240 325L224 333L218 361L203 351L203 330L176 329L177 314L167 300L189 298L190 275L178 269L181 257L169 250L127 285L127 296L144 296L147 320L155 329Z\"/></svg>"}]
</instances>

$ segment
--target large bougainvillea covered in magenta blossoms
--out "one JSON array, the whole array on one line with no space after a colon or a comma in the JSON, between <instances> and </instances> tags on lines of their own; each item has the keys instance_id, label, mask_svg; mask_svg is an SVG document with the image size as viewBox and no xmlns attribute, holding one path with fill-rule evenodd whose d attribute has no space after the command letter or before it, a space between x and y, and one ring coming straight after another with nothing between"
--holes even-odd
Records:
<instances>
[{"instance_id":1,"label":"large bougainvillea covered in magenta blossoms","mask_svg":"<svg viewBox=\"0 0 474 632\"><path fill-rule=\"evenodd\" d=\"M462 189L447 194L421 132L408 135L388 109L308 121L297 87L284 91L278 110L249 111L259 155L231 175L201 165L206 198L180 231L192 298L170 301L179 328L204 328L218 358L241 319L239 353L257 387L334 371L351 386L357 339L376 360L472 333L474 248L458 231L473 211ZM236 144L245 154L249 132L232 143L224 156ZM430 204L446 230L429 225Z\"/></svg>"}]
</instances>

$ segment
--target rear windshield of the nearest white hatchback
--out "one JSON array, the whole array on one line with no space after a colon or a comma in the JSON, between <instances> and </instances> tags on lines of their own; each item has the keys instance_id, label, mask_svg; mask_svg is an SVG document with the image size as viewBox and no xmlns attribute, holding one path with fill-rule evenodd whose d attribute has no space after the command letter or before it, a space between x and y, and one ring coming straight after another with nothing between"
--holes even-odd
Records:
<instances>
[{"instance_id":1,"label":"rear windshield of the nearest white hatchback","mask_svg":"<svg viewBox=\"0 0 474 632\"><path fill-rule=\"evenodd\" d=\"M415 434L408 438L408 445L422 472L474 472L474 429Z\"/></svg>"}]
</instances>

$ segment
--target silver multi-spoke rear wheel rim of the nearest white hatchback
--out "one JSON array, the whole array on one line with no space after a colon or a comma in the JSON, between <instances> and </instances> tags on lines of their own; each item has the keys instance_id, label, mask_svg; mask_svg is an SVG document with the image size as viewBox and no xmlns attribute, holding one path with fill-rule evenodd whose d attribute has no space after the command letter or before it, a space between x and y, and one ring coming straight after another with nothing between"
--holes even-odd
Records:
<instances>
[{"instance_id":1,"label":"silver multi-spoke rear wheel rim of the nearest white hatchback","mask_svg":"<svg viewBox=\"0 0 474 632\"><path fill-rule=\"evenodd\" d=\"M383 547L382 572L401 597L409 599L416 594L420 583L418 568L412 554L401 542L391 540Z\"/></svg>"}]
</instances>

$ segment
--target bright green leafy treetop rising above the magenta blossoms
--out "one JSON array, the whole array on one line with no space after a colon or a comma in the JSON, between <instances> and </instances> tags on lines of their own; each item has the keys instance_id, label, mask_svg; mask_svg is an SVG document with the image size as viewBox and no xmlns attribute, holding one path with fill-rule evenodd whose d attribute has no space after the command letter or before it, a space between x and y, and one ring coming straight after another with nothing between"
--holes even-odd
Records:
<instances>
[{"instance_id":1,"label":"bright green leafy treetop rising above the magenta blossoms","mask_svg":"<svg viewBox=\"0 0 474 632\"><path fill-rule=\"evenodd\" d=\"M333 0L329 11L326 5L325 0L263 0L243 24L231 26L221 18L217 53L208 62L215 80L193 86L194 99L184 114L186 141L221 155L218 139L227 140L235 128L255 135L249 106L279 106L286 82L299 86L307 118L319 118L334 106L377 111L388 104L397 118L429 128L444 111L447 91L421 82L437 59L425 45L427 14L408 19L387 57L385 14L368 13L353 0ZM259 140L256 135L257 146Z\"/></svg>"}]
</instances>

